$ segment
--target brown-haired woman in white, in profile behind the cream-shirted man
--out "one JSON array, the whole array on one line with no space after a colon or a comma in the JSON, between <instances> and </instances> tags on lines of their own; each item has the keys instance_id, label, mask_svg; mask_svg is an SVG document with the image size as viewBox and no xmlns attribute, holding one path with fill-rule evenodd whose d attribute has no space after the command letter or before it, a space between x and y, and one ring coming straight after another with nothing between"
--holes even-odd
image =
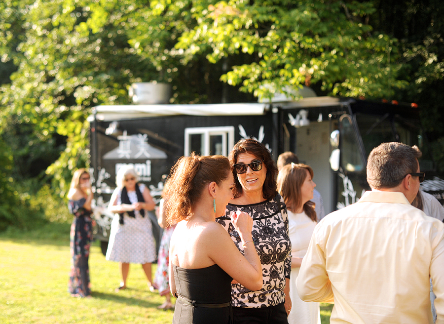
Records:
<instances>
[{"instance_id":1,"label":"brown-haired woman in white, in profile behind the cream-shirted man","mask_svg":"<svg viewBox=\"0 0 444 324\"><path fill-rule=\"evenodd\" d=\"M284 199L288 210L290 240L292 242L292 273L290 296L293 307L288 316L289 324L320 324L319 303L302 301L296 290L302 258L307 252L308 243L316 226L313 190L313 170L305 164L287 164L278 174L278 192Z\"/></svg>"}]
</instances>

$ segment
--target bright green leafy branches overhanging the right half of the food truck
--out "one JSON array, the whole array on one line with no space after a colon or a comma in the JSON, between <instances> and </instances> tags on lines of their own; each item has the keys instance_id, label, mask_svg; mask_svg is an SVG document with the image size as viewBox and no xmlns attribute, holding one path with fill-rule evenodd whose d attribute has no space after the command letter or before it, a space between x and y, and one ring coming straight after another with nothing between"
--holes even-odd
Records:
<instances>
[{"instance_id":1,"label":"bright green leafy branches overhanging the right half of the food truck","mask_svg":"<svg viewBox=\"0 0 444 324\"><path fill-rule=\"evenodd\" d=\"M248 53L250 62L222 80L255 95L318 84L326 94L391 96L405 85L390 62L399 53L396 40L366 23L373 12L358 1L220 1L195 9L198 25L176 47L187 57L208 53L211 63Z\"/></svg>"}]
</instances>

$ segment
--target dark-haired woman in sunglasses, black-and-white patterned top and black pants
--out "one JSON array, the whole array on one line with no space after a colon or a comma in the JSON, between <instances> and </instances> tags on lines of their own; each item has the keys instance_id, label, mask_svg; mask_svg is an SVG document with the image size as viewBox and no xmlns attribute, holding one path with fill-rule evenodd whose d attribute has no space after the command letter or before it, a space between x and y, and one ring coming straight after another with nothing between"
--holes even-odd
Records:
<instances>
[{"instance_id":1,"label":"dark-haired woman in sunglasses, black-and-white patterned top and black pants","mask_svg":"<svg viewBox=\"0 0 444 324\"><path fill-rule=\"evenodd\" d=\"M287 324L291 311L289 281L291 243L285 203L277 193L277 167L270 152L254 139L236 143L228 156L234 177L234 199L225 215L216 219L222 224L240 251L244 251L239 233L229 214L248 213L253 218L252 238L262 266L262 287L250 290L232 284L231 305L234 322Z\"/></svg>"}]
</instances>

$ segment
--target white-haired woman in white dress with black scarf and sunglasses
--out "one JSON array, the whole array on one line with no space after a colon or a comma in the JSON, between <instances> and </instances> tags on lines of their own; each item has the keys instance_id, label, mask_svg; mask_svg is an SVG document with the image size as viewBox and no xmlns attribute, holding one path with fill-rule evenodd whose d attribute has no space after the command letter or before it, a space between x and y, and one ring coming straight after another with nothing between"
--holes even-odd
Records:
<instances>
[{"instance_id":1,"label":"white-haired woman in white dress with black scarf and sunglasses","mask_svg":"<svg viewBox=\"0 0 444 324\"><path fill-rule=\"evenodd\" d=\"M111 223L106 259L119 262L122 276L116 291L126 289L130 263L142 264L149 289L154 290L151 263L156 259L156 243L148 210L154 209L155 203L147 186L140 184L138 178L134 167L122 166L117 171L117 188L108 205L108 209L116 214Z\"/></svg>"}]
</instances>

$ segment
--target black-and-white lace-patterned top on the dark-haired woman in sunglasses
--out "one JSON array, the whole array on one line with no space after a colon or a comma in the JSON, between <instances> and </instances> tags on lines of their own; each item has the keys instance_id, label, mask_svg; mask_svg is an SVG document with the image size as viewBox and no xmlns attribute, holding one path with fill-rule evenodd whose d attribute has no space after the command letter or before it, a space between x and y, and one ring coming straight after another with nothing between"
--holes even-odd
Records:
<instances>
[{"instance_id":1,"label":"black-and-white lace-patterned top on the dark-haired woman in sunglasses","mask_svg":"<svg viewBox=\"0 0 444 324\"><path fill-rule=\"evenodd\" d=\"M279 208L280 206L280 208ZM225 216L216 218L237 248L243 253L239 234L231 224L231 211L243 211L253 218L253 242L262 264L262 289L252 291L240 283L232 284L231 305L234 307L268 307L285 300L285 279L290 278L292 260L287 207L280 195L251 205L228 204Z\"/></svg>"}]
</instances>

